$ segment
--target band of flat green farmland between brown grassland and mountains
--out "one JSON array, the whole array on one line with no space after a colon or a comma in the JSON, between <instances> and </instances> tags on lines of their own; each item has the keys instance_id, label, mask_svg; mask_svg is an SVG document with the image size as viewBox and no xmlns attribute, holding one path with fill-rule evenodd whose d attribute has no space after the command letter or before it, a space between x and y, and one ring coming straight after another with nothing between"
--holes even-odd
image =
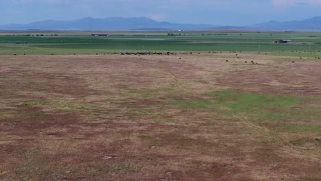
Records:
<instances>
[{"instance_id":1,"label":"band of flat green farmland between brown grassland and mountains","mask_svg":"<svg viewBox=\"0 0 321 181\"><path fill-rule=\"evenodd\" d=\"M0 54L68 54L120 51L320 51L319 32L20 32L0 34ZM28 34L28 36L23 36ZM174 34L174 36L168 36ZM290 39L289 44L272 44ZM288 56L289 53L285 53ZM320 56L320 53L316 53ZM276 54L279 55L279 54ZM306 55L306 56L310 56ZM314 56L314 55L313 55ZM313 57L311 56L311 57Z\"/></svg>"}]
</instances>

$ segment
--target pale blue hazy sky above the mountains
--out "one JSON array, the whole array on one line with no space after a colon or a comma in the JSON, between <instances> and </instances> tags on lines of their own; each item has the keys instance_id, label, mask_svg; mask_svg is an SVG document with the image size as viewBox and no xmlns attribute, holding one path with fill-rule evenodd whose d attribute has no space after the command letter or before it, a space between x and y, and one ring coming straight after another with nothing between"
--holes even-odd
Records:
<instances>
[{"instance_id":1,"label":"pale blue hazy sky above the mountains","mask_svg":"<svg viewBox=\"0 0 321 181\"><path fill-rule=\"evenodd\" d=\"M252 25L321 16L321 0L1 0L0 25L84 17Z\"/></svg>"}]
</instances>

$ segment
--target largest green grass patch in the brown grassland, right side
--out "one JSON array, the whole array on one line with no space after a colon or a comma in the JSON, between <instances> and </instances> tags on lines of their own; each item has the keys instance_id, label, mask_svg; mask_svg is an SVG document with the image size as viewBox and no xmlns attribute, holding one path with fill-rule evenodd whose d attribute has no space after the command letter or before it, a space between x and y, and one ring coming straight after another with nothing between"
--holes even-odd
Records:
<instances>
[{"instance_id":1,"label":"largest green grass patch in the brown grassland, right side","mask_svg":"<svg viewBox=\"0 0 321 181\"><path fill-rule=\"evenodd\" d=\"M202 111L241 117L249 121L311 121L321 117L320 106L307 104L307 97L234 90L214 91L203 96L206 98L174 99L171 104L180 108L202 108Z\"/></svg>"}]
</instances>

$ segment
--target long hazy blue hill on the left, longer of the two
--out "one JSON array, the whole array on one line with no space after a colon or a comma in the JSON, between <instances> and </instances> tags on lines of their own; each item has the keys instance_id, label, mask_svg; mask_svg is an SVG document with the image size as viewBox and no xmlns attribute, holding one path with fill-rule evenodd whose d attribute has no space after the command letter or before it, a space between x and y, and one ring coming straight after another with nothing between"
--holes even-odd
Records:
<instances>
[{"instance_id":1,"label":"long hazy blue hill on the left, longer of the two","mask_svg":"<svg viewBox=\"0 0 321 181\"><path fill-rule=\"evenodd\" d=\"M158 22L145 17L107 19L84 18L75 21L39 21L26 25L0 25L1 30L51 29L51 30L128 30L128 29L211 29L215 25L193 25Z\"/></svg>"}]
</instances>

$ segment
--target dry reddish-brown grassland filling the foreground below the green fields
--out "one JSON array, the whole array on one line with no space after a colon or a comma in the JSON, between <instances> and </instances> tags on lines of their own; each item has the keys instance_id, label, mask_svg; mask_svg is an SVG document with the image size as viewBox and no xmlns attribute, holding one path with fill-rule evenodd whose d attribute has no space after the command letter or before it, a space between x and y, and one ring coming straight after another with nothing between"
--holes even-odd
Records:
<instances>
[{"instance_id":1,"label":"dry reddish-brown grassland filling the foreground below the green fields","mask_svg":"<svg viewBox=\"0 0 321 181\"><path fill-rule=\"evenodd\" d=\"M0 180L320 180L321 62L287 56L2 55Z\"/></svg>"}]
</instances>

